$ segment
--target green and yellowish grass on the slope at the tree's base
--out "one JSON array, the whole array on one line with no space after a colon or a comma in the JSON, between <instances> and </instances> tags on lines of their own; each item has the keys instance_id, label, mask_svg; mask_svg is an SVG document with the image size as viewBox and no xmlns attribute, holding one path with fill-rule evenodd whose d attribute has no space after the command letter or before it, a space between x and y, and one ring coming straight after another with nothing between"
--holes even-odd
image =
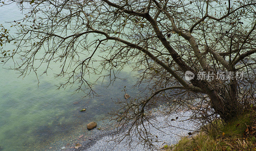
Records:
<instances>
[{"instance_id":1,"label":"green and yellowish grass on the slope at the tree's base","mask_svg":"<svg viewBox=\"0 0 256 151\"><path fill-rule=\"evenodd\" d=\"M175 146L165 147L165 151L256 151L256 132L244 135L247 125L254 125L255 111L245 112L229 122L218 123L206 133L200 132L192 138L181 138Z\"/></svg>"}]
</instances>

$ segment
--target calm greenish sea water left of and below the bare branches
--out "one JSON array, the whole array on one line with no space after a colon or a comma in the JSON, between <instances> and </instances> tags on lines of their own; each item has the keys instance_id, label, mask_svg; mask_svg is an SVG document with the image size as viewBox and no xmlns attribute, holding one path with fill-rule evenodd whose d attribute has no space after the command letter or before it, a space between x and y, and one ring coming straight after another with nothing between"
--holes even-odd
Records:
<instances>
[{"instance_id":1,"label":"calm greenish sea water left of and below the bare branches","mask_svg":"<svg viewBox=\"0 0 256 151\"><path fill-rule=\"evenodd\" d=\"M15 5L0 7L0 24L6 25L5 21L21 17ZM94 87L102 96L82 98L83 93L73 94L76 85L57 91L55 85L65 79L54 79L50 70L48 76L39 77L37 85L34 74L18 78L15 71L3 69L11 65L11 62L5 66L0 64L1 151L45 150L49 147L59 150L67 143L73 144L74 138L80 134L92 135L93 131L86 129L88 122L98 122L116 108L111 98L123 99L124 92L121 91L124 86L131 96L138 91L130 89L136 79L129 68L119 74L126 79L116 80L107 89L108 80ZM92 81L95 78L91 76ZM79 112L83 108L86 112Z\"/></svg>"}]
</instances>

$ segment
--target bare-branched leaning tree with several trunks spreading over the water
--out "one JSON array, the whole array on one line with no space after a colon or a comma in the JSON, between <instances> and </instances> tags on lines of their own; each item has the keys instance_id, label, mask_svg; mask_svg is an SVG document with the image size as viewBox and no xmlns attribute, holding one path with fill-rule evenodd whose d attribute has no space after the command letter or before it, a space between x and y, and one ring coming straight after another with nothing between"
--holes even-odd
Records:
<instances>
[{"instance_id":1,"label":"bare-branched leaning tree with several trunks spreading over the water","mask_svg":"<svg viewBox=\"0 0 256 151\"><path fill-rule=\"evenodd\" d=\"M10 3L17 3L26 16L12 22L14 36L3 27L1 46L10 43L17 48L10 55L2 48L1 59L5 63L21 58L13 68L21 75L36 73L45 63L47 73L52 63L61 62L57 76L67 81L59 87L79 82L77 91L91 95L93 83L84 75L108 71L102 76L113 82L115 73L127 65L139 71L137 84L148 83L145 91L151 94L118 102L125 112L114 117L125 117L126 124L144 126L150 116L145 110L169 102L169 109L200 105L192 119L204 117L211 122L215 116L227 123L255 98L253 0L5 2ZM100 52L104 55L96 60ZM94 67L93 62L100 65ZM195 77L186 81L186 71ZM204 73L213 78L202 78Z\"/></svg>"}]
</instances>

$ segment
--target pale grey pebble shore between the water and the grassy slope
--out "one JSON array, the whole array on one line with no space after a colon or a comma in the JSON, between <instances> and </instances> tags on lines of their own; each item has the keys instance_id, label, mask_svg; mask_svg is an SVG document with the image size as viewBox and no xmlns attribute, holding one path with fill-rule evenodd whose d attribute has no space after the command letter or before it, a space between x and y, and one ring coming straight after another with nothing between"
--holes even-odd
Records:
<instances>
[{"instance_id":1,"label":"pale grey pebble shore between the water and the grassy slope","mask_svg":"<svg viewBox=\"0 0 256 151\"><path fill-rule=\"evenodd\" d=\"M173 113L168 116L156 116L157 122L156 126L160 128L161 131L156 128L151 128L150 132L158 136L158 140L161 142L155 144L160 148L161 144L165 142L167 145L176 144L181 136L188 136L188 132L195 129L194 123L189 121L183 121L188 119L190 112L180 112ZM176 121L171 121L171 119L178 119ZM166 120L168 119L168 120ZM172 124L172 127L165 127L166 122ZM182 122L180 122L182 121ZM179 128L177 128L179 127ZM127 132L127 131L126 131ZM122 132L123 134L124 132ZM121 143L116 143L113 138L117 138L119 134L115 131L99 131L95 134L92 140L81 143L82 147L76 149L79 151L146 151L143 145L138 144L138 137L132 137L133 142L131 147L127 145L127 141L122 141Z\"/></svg>"}]
</instances>

